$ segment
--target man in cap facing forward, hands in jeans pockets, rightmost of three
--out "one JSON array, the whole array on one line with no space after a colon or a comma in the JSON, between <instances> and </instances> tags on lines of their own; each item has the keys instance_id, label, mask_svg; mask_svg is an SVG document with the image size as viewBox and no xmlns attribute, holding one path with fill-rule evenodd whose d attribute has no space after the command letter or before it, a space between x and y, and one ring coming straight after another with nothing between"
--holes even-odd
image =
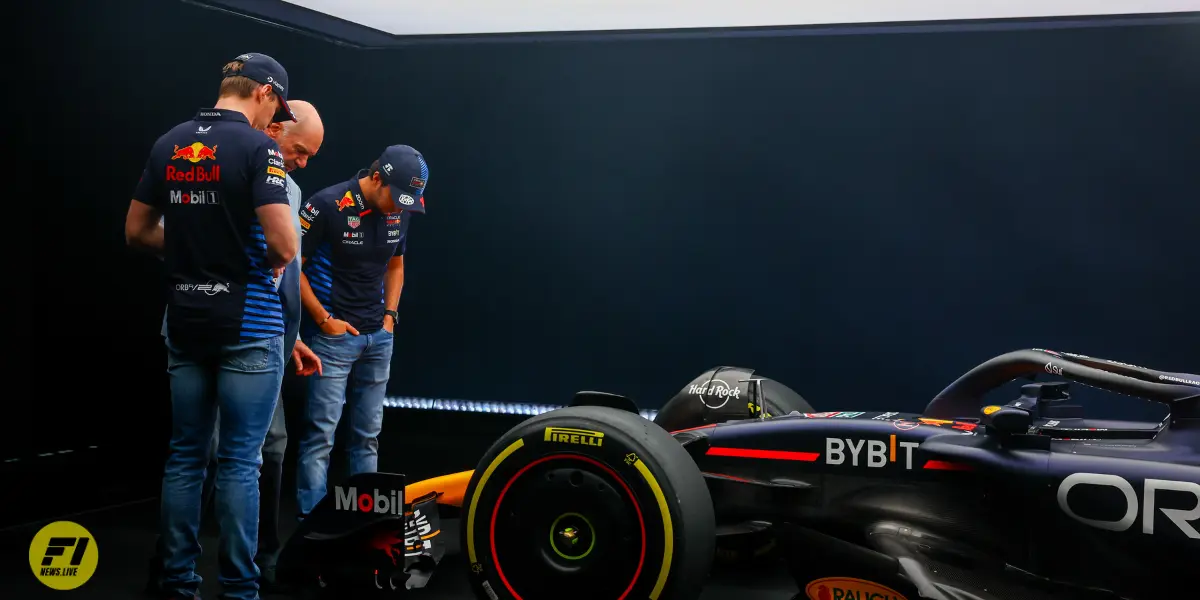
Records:
<instances>
[{"instance_id":1,"label":"man in cap facing forward, hands in jeans pockets, rightmost of three","mask_svg":"<svg viewBox=\"0 0 1200 600\"><path fill-rule=\"evenodd\" d=\"M308 317L300 335L324 368L308 384L300 433L301 517L325 496L343 403L349 474L377 470L408 226L414 212L425 212L428 176L421 152L389 146L371 168L317 192L300 209L300 294Z\"/></svg>"}]
</instances>

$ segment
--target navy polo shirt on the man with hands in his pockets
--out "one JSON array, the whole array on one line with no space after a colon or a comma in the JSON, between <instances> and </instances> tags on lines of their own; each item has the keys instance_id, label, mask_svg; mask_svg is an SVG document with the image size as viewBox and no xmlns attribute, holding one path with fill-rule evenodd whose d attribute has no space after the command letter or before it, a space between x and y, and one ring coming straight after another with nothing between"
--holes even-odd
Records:
<instances>
[{"instance_id":1,"label":"navy polo shirt on the man with hands in his pockets","mask_svg":"<svg viewBox=\"0 0 1200 600\"><path fill-rule=\"evenodd\" d=\"M300 209L305 277L325 311L360 334L383 329L388 263L404 256L413 218L410 210L383 215L367 208L359 179L368 175L360 170L317 192ZM307 317L301 329L306 334L316 325Z\"/></svg>"}]
</instances>

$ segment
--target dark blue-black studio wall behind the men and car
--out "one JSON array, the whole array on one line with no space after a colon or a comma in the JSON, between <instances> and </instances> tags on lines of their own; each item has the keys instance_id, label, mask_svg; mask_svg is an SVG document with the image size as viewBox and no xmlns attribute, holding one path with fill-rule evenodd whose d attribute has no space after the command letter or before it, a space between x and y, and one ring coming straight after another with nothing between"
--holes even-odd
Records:
<instances>
[{"instance_id":1,"label":"dark blue-black studio wall behind the men and car","mask_svg":"<svg viewBox=\"0 0 1200 600\"><path fill-rule=\"evenodd\" d=\"M176 1L26 11L30 198L68 215L34 230L70 232L31 266L6 456L157 476L161 268L125 212L244 52L323 115L306 193L388 144L430 162L391 395L658 407L725 364L919 410L1027 347L1200 371L1196 24L358 50Z\"/></svg>"}]
</instances>

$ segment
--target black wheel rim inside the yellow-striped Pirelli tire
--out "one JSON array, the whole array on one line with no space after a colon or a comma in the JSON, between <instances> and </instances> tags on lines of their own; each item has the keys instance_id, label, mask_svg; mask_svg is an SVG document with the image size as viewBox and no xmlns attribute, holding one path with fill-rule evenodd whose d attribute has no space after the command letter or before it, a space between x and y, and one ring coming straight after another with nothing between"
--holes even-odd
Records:
<instances>
[{"instance_id":1,"label":"black wheel rim inside the yellow-striped Pirelli tire","mask_svg":"<svg viewBox=\"0 0 1200 600\"><path fill-rule=\"evenodd\" d=\"M497 575L518 600L624 599L646 559L646 522L632 491L578 455L546 456L514 474L497 498L490 538Z\"/></svg>"}]
</instances>

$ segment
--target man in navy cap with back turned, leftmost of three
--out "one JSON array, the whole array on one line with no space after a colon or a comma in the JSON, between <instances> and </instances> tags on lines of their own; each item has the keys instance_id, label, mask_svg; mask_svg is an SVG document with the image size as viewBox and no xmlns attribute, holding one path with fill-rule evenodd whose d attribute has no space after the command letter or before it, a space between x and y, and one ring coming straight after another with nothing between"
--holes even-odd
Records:
<instances>
[{"instance_id":1,"label":"man in navy cap with back turned, leftmost of three","mask_svg":"<svg viewBox=\"0 0 1200 600\"><path fill-rule=\"evenodd\" d=\"M220 408L220 580L224 598L254 600L259 467L284 365L275 280L300 246L280 146L258 130L294 116L287 71L275 59L244 54L222 74L216 106L155 142L125 234L131 246L162 256L168 280L162 593L199 590L200 487Z\"/></svg>"}]
</instances>

